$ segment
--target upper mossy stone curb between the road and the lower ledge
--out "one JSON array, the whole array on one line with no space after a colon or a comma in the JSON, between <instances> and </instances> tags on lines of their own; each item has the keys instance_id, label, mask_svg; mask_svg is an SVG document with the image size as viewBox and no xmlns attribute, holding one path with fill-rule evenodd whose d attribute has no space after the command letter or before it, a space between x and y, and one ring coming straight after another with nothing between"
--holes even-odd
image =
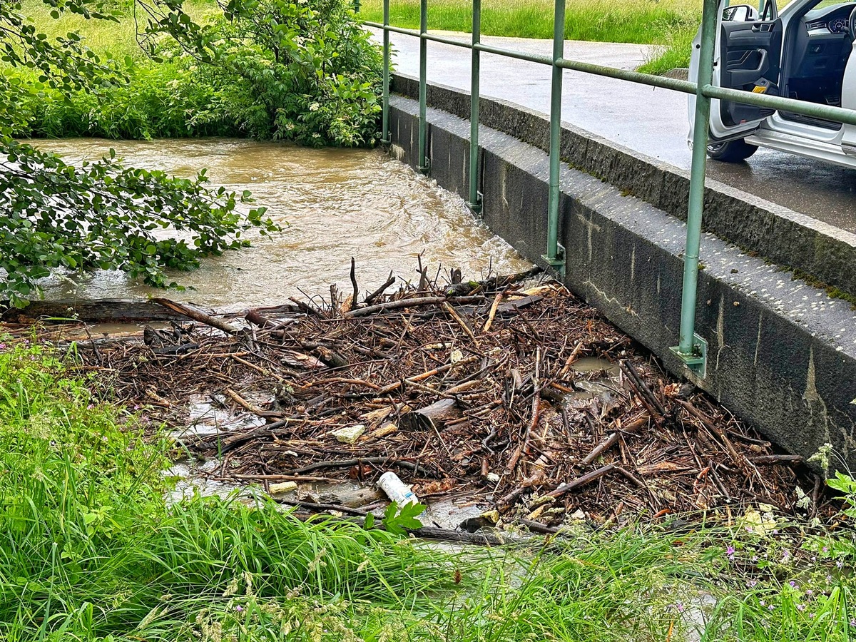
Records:
<instances>
[{"instance_id":1,"label":"upper mossy stone curb between the road and the lower ledge","mask_svg":"<svg viewBox=\"0 0 856 642\"><path fill-rule=\"evenodd\" d=\"M409 76L395 74L394 88L410 98L419 96L419 83ZM461 118L469 117L468 92L430 85L428 104ZM483 124L549 150L546 116L502 100L482 98L480 104ZM568 123L562 124L562 159L660 210L687 217L688 170L660 163ZM856 295L856 234L710 178L706 186L704 229L748 252Z\"/></svg>"}]
</instances>

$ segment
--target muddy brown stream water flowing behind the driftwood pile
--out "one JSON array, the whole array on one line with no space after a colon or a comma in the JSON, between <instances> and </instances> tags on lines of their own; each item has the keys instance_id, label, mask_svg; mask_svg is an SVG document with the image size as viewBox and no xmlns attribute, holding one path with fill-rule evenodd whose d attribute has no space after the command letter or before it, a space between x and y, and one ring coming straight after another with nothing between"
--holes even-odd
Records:
<instances>
[{"instance_id":1,"label":"muddy brown stream water flowing behind the driftwood pile","mask_svg":"<svg viewBox=\"0 0 856 642\"><path fill-rule=\"evenodd\" d=\"M69 162L95 160L110 148L128 165L193 176L207 168L211 184L248 189L276 223L271 238L253 247L205 259L173 278L186 286L168 296L206 306L240 309L281 303L289 296L329 295L330 283L351 290L353 256L363 292L389 270L417 280L417 255L433 275L461 268L464 276L508 273L529 264L467 211L464 201L416 175L380 150L308 149L247 140L39 140ZM193 289L189 289L193 288ZM163 295L122 273L99 271L45 282L49 299L145 298Z\"/></svg>"}]
</instances>

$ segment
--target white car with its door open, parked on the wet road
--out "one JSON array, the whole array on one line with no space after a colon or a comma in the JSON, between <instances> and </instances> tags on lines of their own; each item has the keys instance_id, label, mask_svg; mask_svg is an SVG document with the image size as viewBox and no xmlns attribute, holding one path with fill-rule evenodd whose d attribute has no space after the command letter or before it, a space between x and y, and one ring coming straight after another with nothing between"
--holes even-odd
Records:
<instances>
[{"instance_id":1,"label":"white car with its door open, parked on the wet road","mask_svg":"<svg viewBox=\"0 0 856 642\"><path fill-rule=\"evenodd\" d=\"M768 0L759 15L722 0L716 34L713 85L856 109L856 2L792 0L780 14ZM700 40L701 29L693 40L693 81ZM690 96L691 130L694 110ZM735 163L758 147L856 168L853 125L712 100L708 156Z\"/></svg>"}]
</instances>

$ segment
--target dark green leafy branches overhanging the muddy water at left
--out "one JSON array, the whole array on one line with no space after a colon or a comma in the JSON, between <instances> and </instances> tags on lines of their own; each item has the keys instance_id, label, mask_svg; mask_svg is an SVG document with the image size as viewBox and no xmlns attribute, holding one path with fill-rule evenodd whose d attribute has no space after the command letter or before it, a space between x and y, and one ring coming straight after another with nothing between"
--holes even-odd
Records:
<instances>
[{"instance_id":1,"label":"dark green leafy branches overhanging the muddy water at left","mask_svg":"<svg viewBox=\"0 0 856 642\"><path fill-rule=\"evenodd\" d=\"M55 268L122 270L163 286L164 268L198 267L202 256L245 247L247 229L276 229L264 208L235 210L249 193L206 187L204 170L170 178L112 155L75 168L10 139L0 152L0 296L15 305ZM156 234L163 229L170 234Z\"/></svg>"}]
</instances>

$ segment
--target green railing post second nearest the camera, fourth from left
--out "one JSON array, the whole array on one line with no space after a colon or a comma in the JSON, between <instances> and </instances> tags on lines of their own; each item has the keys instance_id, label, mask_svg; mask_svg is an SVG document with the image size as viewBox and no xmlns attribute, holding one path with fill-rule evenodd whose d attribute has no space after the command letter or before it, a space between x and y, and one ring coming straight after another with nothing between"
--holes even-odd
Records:
<instances>
[{"instance_id":1,"label":"green railing post second nearest the camera, fourth from left","mask_svg":"<svg viewBox=\"0 0 856 642\"><path fill-rule=\"evenodd\" d=\"M550 199L547 211L547 253L542 257L562 273L564 248L559 245L559 154L562 143L562 73L556 62L565 55L565 0L553 12L553 76L550 84Z\"/></svg>"}]
</instances>

